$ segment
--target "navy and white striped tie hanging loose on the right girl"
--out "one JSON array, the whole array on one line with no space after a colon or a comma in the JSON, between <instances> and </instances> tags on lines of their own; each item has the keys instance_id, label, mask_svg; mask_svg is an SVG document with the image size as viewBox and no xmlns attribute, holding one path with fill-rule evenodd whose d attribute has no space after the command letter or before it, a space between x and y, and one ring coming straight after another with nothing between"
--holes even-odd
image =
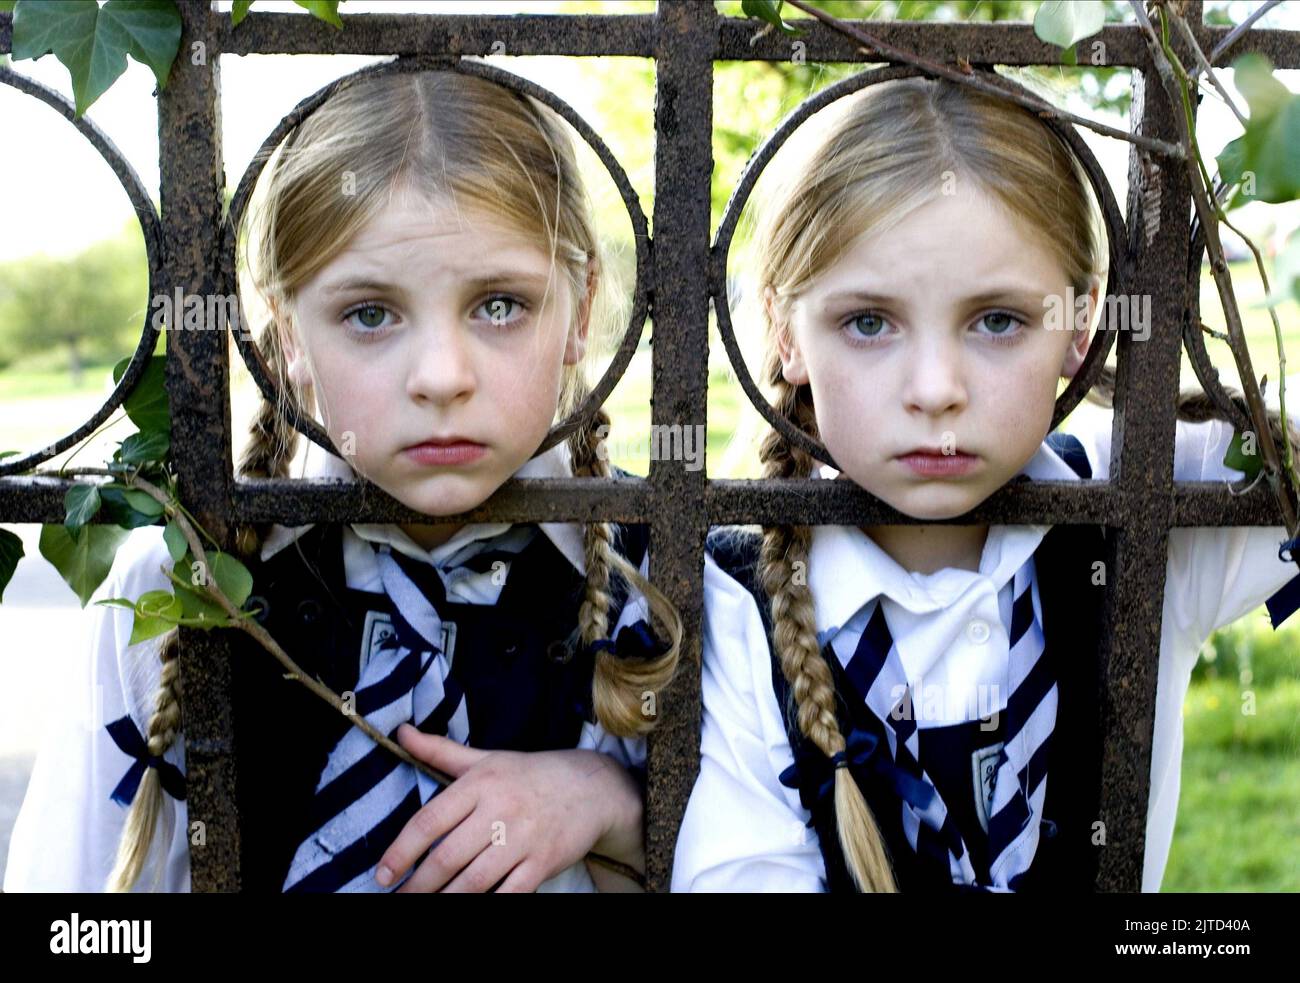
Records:
<instances>
[{"instance_id":1,"label":"navy and white striped tie hanging loose on the right girl","mask_svg":"<svg viewBox=\"0 0 1300 983\"><path fill-rule=\"evenodd\" d=\"M1041 658L1045 646L1032 557L1015 572L1011 596L1006 731L997 758L988 826L991 883L985 887L993 891L1014 891L1034 862L1057 711L1052 664ZM842 651L835 640L831 648L854 689L863 694L867 706L884 723L894 763L933 788L935 783L920 766L920 740L915 714L911 713L916 706L915 694L907 683L880 601L876 599L852 653ZM904 696L896 700L898 693ZM937 789L924 810L906 801L901 801L901 809L904 833L913 850L946 866L954 883L978 883L970 852Z\"/></svg>"}]
</instances>

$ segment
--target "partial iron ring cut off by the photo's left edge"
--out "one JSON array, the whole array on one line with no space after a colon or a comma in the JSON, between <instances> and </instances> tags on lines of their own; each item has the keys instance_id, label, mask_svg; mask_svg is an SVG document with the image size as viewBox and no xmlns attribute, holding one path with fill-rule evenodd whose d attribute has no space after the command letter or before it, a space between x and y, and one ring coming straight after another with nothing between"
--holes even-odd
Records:
<instances>
[{"instance_id":1,"label":"partial iron ring cut off by the photo's left edge","mask_svg":"<svg viewBox=\"0 0 1300 983\"><path fill-rule=\"evenodd\" d=\"M157 212L153 209L153 202L150 199L150 192L140 181L140 176L135 173L135 168L126 161L121 151L113 146L113 142L108 139L108 137L98 126L95 126L95 124L86 117L78 118L77 107L64 99L64 96L55 90L6 68L0 68L0 82L6 86L13 86L20 92L35 96L42 103L46 103L56 109L60 116L77 127L82 137L90 140L91 146L99 151L99 155L105 160L108 166L113 169L113 174L117 176L118 182L122 185L122 190L126 191L126 196L131 200L131 205L135 208L135 217L140 222L140 231L144 234L144 255L148 259L150 265L150 296L157 296L162 282L162 228L159 222ZM146 304L146 308L148 307L151 307L151 304ZM32 451L31 454L26 454L21 458L5 458L4 460L0 460L0 477L31 471L34 467L49 460L56 454L61 454L69 447L81 443L83 439L90 437L99 428L99 425L104 423L104 420L112 416L117 407L126 402L126 397L131 394L131 390L135 389L140 377L144 374L144 369L148 365L150 358L153 355L155 346L157 345L159 329L153 326L152 320L153 319L150 316L148 309L146 309L144 326L140 332L140 342L135 346L135 354L131 355L131 360L126 365L126 371L117 381L117 386L114 386L108 399L104 400L104 404L96 410L86 423L72 433L60 437L47 447L43 447L39 451Z\"/></svg>"}]
</instances>

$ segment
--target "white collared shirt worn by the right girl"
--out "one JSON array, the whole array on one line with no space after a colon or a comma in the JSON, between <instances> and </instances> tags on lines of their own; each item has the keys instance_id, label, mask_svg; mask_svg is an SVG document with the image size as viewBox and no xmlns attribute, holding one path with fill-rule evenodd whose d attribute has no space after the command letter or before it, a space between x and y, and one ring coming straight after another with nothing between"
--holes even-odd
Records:
<instances>
[{"instance_id":1,"label":"white collared shirt worn by the right girl","mask_svg":"<svg viewBox=\"0 0 1300 983\"><path fill-rule=\"evenodd\" d=\"M1071 423L1093 476L1108 477L1109 413L1089 407ZM1222 464L1231 438L1232 428L1218 420L1180 423L1174 480L1239 480L1240 472ZM835 473L826 468L819 477ZM1078 480L1045 442L1022 473ZM979 571L923 575L904 570L855 527L814 527L809 585L819 638L824 644L833 637L879 596L910 684L923 680L926 687L941 687L940 693L1001 693L998 709L1005 707L1005 687L963 688L1006 679L1010 579L1048 529L991 527ZM1182 705L1197 654L1216 628L1254 610L1296 576L1295 564L1278 559L1284 538L1284 529L1269 527L1170 531L1143 891L1160 889L1169 858L1183 752ZM850 648L854 642L848 640ZM816 835L806 827L809 811L798 791L777 780L793 755L772 688L762 618L750 593L712 558L705 564L702 658L699 776L677 839L672 889L824 891L826 867ZM918 727L968 719L968 706L970 701L937 701L918 718Z\"/></svg>"}]
</instances>

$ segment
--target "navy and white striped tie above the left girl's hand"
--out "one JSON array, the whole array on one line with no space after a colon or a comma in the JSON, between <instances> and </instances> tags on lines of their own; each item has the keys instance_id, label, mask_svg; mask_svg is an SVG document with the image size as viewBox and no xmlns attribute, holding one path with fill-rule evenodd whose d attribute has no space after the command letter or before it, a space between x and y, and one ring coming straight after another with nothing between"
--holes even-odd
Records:
<instances>
[{"instance_id":1,"label":"navy and white striped tie above the left girl's hand","mask_svg":"<svg viewBox=\"0 0 1300 983\"><path fill-rule=\"evenodd\" d=\"M426 733L469 740L465 694L451 677L436 603L446 601L438 571L376 551L393 601L394 636L370 655L356 688L356 713L395 737L403 723ZM311 806L313 832L294 854L286 892L385 892L374 869L406 823L441 785L352 727L330 752ZM415 870L415 865L411 867ZM410 876L411 871L407 872Z\"/></svg>"}]
</instances>

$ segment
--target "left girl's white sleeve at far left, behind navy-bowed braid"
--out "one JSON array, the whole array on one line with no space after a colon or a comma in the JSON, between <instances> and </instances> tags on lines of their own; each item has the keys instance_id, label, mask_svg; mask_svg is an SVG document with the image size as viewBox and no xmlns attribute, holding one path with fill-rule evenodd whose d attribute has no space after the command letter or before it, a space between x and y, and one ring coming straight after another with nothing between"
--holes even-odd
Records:
<instances>
[{"instance_id":1,"label":"left girl's white sleeve at far left, behind navy-bowed braid","mask_svg":"<svg viewBox=\"0 0 1300 983\"><path fill-rule=\"evenodd\" d=\"M117 857L127 810L113 789L134 759L105 724L130 713L146 733L161 666L159 638L127 645L133 614L94 601L169 586L160 567L170 564L161 527L135 531L122 545L112 575L84 612L88 644L73 659L68 700L46 731L22 809L14 823L5 867L6 893L31 891L101 892ZM164 758L185 771L181 736ZM162 794L153 849L134 891L190 889L186 804Z\"/></svg>"}]
</instances>

